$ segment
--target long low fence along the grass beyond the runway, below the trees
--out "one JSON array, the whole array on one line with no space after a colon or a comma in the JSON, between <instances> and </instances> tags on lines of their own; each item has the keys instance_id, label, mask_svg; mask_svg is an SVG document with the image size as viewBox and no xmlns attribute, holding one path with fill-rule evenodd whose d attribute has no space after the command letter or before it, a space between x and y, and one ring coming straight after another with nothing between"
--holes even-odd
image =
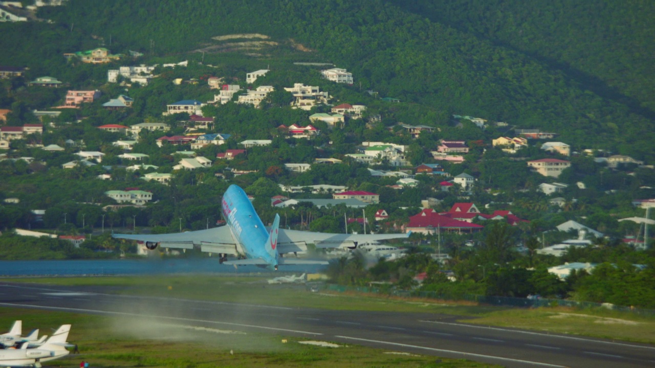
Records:
<instances>
[{"instance_id":1,"label":"long low fence along the grass beyond the runway, below the trees","mask_svg":"<svg viewBox=\"0 0 655 368\"><path fill-rule=\"evenodd\" d=\"M569 306L572 308L607 308L610 310L618 310L620 312L631 312L641 316L655 316L655 310L635 308L631 306L618 306L614 304L602 304L584 301L571 301L567 299L528 299L528 298L515 298L515 297L496 297L491 295L449 295L436 293L436 291L417 291L417 290L397 290L397 289L381 289L379 287L367 286L344 286L328 284L326 287L329 291L337 291L343 293L345 291L358 291L360 293L373 293L392 295L395 297L420 297L426 299L439 299L444 301L469 301L479 304L488 305L502 305L502 306L520 306L520 307L540 307L540 306Z\"/></svg>"}]
</instances>

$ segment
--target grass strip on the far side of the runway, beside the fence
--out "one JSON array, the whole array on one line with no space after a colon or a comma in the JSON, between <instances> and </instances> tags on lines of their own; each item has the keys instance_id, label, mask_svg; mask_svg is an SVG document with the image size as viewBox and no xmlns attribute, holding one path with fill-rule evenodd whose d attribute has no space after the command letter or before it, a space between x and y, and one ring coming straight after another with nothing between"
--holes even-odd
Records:
<instances>
[{"instance_id":1,"label":"grass strip on the far side of the runway, beside the fence","mask_svg":"<svg viewBox=\"0 0 655 368\"><path fill-rule=\"evenodd\" d=\"M302 285L269 285L263 277L157 276L29 278L12 282L105 285L122 294L202 299L248 304L335 310L423 312L461 316L462 322L517 327L655 344L655 318L612 310L477 306L429 299L403 299L355 293L310 293Z\"/></svg>"}]
</instances>

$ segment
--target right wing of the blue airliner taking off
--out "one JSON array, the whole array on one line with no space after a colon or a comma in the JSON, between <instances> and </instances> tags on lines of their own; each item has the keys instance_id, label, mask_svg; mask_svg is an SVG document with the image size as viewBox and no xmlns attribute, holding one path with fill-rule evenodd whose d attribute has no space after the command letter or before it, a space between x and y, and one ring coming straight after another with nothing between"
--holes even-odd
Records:
<instances>
[{"instance_id":1,"label":"right wing of the blue airliner taking off","mask_svg":"<svg viewBox=\"0 0 655 368\"><path fill-rule=\"evenodd\" d=\"M285 250L286 247L302 247L307 244L314 244L316 248L352 248L365 242L408 237L409 234L329 234L327 232L280 229L278 244Z\"/></svg>"}]
</instances>

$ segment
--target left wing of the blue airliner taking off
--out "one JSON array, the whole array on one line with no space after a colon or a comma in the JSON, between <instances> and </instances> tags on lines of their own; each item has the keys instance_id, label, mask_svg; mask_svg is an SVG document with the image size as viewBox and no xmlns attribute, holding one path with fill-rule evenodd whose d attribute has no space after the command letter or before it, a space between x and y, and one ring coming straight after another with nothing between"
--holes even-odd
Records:
<instances>
[{"instance_id":1,"label":"left wing of the blue airliner taking off","mask_svg":"<svg viewBox=\"0 0 655 368\"><path fill-rule=\"evenodd\" d=\"M237 254L236 242L227 226L172 234L112 234L111 236L138 242L158 243L164 248L192 249L194 246L200 246L202 251Z\"/></svg>"}]
</instances>

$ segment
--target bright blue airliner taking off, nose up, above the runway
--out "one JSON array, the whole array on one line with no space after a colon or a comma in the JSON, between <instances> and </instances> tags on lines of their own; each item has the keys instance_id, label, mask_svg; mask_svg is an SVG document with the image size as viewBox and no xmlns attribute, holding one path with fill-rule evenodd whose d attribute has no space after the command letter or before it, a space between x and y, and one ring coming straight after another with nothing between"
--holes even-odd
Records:
<instances>
[{"instance_id":1,"label":"bright blue airliner taking off, nose up, above the runway","mask_svg":"<svg viewBox=\"0 0 655 368\"><path fill-rule=\"evenodd\" d=\"M350 248L359 242L407 238L409 234L328 234L301 230L280 229L280 215L276 213L272 226L267 228L255 212L246 192L238 185L230 185L221 200L221 213L226 225L213 229L173 234L113 234L114 238L145 242L147 249L199 246L201 251L218 253L225 265L254 265L277 270L279 265L327 265L327 261L290 259L286 253L307 251L307 244L316 248ZM228 261L228 255L240 259Z\"/></svg>"}]
</instances>

